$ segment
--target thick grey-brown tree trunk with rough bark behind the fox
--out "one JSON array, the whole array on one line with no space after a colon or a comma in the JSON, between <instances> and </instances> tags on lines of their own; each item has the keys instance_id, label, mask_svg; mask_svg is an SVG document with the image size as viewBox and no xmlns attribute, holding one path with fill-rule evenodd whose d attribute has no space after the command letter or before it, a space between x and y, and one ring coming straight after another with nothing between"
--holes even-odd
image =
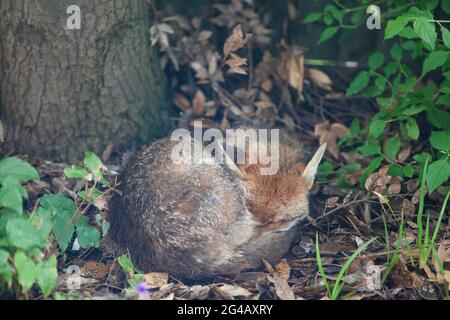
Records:
<instances>
[{"instance_id":1,"label":"thick grey-brown tree trunk with rough bark behind the fox","mask_svg":"<svg viewBox=\"0 0 450 320\"><path fill-rule=\"evenodd\" d=\"M66 26L70 5L80 30ZM73 160L164 133L147 0L1 0L0 17L3 151Z\"/></svg>"}]
</instances>

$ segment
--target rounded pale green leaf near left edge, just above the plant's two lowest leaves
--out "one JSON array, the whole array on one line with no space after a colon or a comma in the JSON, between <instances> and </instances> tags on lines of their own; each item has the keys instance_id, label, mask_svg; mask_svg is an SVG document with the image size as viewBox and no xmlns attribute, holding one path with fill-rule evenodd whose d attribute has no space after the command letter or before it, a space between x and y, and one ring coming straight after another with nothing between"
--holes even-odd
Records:
<instances>
[{"instance_id":1,"label":"rounded pale green leaf near left edge, just above the plant's two lowest leaves","mask_svg":"<svg viewBox=\"0 0 450 320\"><path fill-rule=\"evenodd\" d=\"M15 247L29 250L34 247L43 247L45 238L42 233L24 218L13 218L6 224L8 241Z\"/></svg>"}]
</instances>

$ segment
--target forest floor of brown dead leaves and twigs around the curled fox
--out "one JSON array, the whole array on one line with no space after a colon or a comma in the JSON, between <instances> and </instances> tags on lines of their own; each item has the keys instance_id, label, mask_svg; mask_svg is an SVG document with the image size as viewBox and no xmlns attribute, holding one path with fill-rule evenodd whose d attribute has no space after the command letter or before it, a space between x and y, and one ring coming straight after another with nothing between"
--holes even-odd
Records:
<instances>
[{"instance_id":1,"label":"forest floor of brown dead leaves and twigs around the curled fox","mask_svg":"<svg viewBox=\"0 0 450 320\"><path fill-rule=\"evenodd\" d=\"M321 271L329 283L335 283L341 280L341 270L345 272L340 298L447 297L450 274L439 271L441 264L450 262L450 240L445 240L450 239L449 221L445 218L438 222L443 189L422 202L418 178L391 176L387 165L370 172L361 184L364 170L358 163L364 158L342 144L342 139L357 136L359 127L368 125L379 106L362 96L345 97L351 80L345 68L319 70L306 66L305 49L286 41L276 45L274 54L268 49L272 31L254 11L242 11L240 1L233 3L235 7L218 6L219 14L206 14L201 19L155 13L152 41L160 48L174 92L173 104L179 111L173 119L174 127L190 127L194 120L201 120L203 127L226 129L237 121L255 120L269 127L287 128L311 150L319 142L327 142L328 152L311 192L311 217L278 265L266 265L235 278L197 283L150 273L145 275L150 288L147 298L328 299L330 293ZM231 36L221 41L204 28L202 21L225 28ZM245 32L252 33L251 40ZM397 158L405 161L412 149L418 148L420 143L402 146ZM111 155L108 149L103 160L110 171L119 172L128 157L124 150ZM76 193L80 187L64 177L66 164L30 161L38 168L45 186L35 192L35 197L46 191ZM31 189L36 187L34 184ZM32 205L33 197L29 201ZM439 227L431 267L419 263L417 212L421 202L424 216L429 216L429 233ZM98 212L107 216L105 203L87 213L92 217ZM352 253L374 238L347 268L345 262ZM316 239L322 270L317 263ZM72 294L97 299L124 297L123 290L130 289L129 285L117 257L106 246L77 251L71 248L61 261L57 291L68 293L65 271L77 265L81 269L81 290Z\"/></svg>"}]
</instances>

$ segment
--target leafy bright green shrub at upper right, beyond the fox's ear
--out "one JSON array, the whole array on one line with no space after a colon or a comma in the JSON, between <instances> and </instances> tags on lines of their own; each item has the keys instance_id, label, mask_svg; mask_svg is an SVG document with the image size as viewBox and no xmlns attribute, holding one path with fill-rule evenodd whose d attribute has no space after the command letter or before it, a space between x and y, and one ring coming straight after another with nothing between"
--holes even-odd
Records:
<instances>
[{"instance_id":1,"label":"leafy bright green shrub at upper right, beyond the fox's ear","mask_svg":"<svg viewBox=\"0 0 450 320\"><path fill-rule=\"evenodd\" d=\"M347 8L334 3L304 20L327 26L319 43L341 30L365 28L368 4ZM450 20L435 18L438 13L450 14L450 0L377 4L385 6L381 18L387 21L382 27L383 51L369 57L368 68L356 75L346 95L375 98L380 109L367 128L355 119L339 144L371 159L361 185L384 163L389 165L389 175L412 178L421 176L428 162L425 180L431 193L450 177ZM415 146L410 162L397 158L402 145Z\"/></svg>"}]
</instances>

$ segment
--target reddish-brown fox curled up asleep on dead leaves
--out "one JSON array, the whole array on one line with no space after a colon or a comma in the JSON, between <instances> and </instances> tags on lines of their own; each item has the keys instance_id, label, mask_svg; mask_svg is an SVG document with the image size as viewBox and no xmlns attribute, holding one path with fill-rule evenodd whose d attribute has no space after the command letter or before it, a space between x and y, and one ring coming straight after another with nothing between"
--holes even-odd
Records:
<instances>
[{"instance_id":1,"label":"reddish-brown fox curled up asleep on dead leaves","mask_svg":"<svg viewBox=\"0 0 450 320\"><path fill-rule=\"evenodd\" d=\"M287 133L265 139L241 129L231 141L216 132L208 146L195 134L165 138L129 163L122 196L110 205L110 235L140 270L185 279L235 275L262 259L276 263L299 238L326 146L305 164L307 152ZM271 164L260 150L277 170L262 170Z\"/></svg>"}]
</instances>

